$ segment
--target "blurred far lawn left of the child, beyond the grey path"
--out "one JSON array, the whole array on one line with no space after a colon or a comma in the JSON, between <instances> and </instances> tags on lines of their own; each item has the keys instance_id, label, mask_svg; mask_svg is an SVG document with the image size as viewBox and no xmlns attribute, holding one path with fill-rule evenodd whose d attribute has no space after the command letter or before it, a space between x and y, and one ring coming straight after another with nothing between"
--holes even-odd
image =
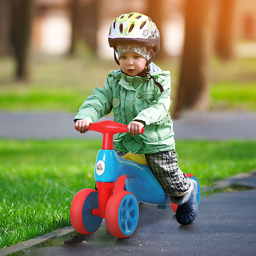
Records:
<instances>
[{"instance_id":1,"label":"blurred far lawn left of the child, beyond the grey path","mask_svg":"<svg viewBox=\"0 0 256 256\"><path fill-rule=\"evenodd\" d=\"M13 78L12 59L0 57L0 110L76 112L94 87L104 85L110 61L103 62L35 57L30 80L20 82Z\"/></svg>"}]
</instances>

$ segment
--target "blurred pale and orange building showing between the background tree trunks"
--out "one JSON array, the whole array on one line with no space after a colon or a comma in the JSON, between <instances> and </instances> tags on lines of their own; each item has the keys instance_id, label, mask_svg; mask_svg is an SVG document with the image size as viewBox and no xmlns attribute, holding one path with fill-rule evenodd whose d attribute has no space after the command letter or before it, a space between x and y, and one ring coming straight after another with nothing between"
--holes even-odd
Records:
<instances>
[{"instance_id":1,"label":"blurred pale and orange building showing between the background tree trunks","mask_svg":"<svg viewBox=\"0 0 256 256\"><path fill-rule=\"evenodd\" d=\"M90 2L93 0L78 0ZM112 57L108 45L111 22L121 13L145 12L147 0L98 0L98 54ZM36 0L36 13L32 26L32 46L49 53L66 53L71 46L72 0ZM170 56L179 56L183 47L184 0L159 0L164 4L165 23L161 34L162 45ZM237 0L236 38L256 41L256 0Z\"/></svg>"}]
</instances>

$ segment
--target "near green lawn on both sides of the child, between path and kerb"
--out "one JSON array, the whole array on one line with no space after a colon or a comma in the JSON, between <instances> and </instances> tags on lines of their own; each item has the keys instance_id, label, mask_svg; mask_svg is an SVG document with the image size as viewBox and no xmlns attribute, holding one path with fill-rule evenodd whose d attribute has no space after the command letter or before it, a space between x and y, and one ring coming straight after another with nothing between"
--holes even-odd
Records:
<instances>
[{"instance_id":1,"label":"near green lawn on both sides of the child, between path and kerb","mask_svg":"<svg viewBox=\"0 0 256 256\"><path fill-rule=\"evenodd\" d=\"M94 187L100 140L0 139L0 248L70 225L73 196ZM179 166L201 185L256 168L256 141L178 140Z\"/></svg>"}]
</instances>

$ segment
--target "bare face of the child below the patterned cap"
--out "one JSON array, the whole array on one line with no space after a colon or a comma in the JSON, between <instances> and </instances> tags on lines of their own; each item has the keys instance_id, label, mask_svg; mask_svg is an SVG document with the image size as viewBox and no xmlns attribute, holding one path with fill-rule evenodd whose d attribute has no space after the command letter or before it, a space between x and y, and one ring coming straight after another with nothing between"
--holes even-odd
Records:
<instances>
[{"instance_id":1,"label":"bare face of the child below the patterned cap","mask_svg":"<svg viewBox=\"0 0 256 256\"><path fill-rule=\"evenodd\" d=\"M122 72L135 76L146 68L146 59L135 52L126 52L119 59Z\"/></svg>"}]
</instances>

